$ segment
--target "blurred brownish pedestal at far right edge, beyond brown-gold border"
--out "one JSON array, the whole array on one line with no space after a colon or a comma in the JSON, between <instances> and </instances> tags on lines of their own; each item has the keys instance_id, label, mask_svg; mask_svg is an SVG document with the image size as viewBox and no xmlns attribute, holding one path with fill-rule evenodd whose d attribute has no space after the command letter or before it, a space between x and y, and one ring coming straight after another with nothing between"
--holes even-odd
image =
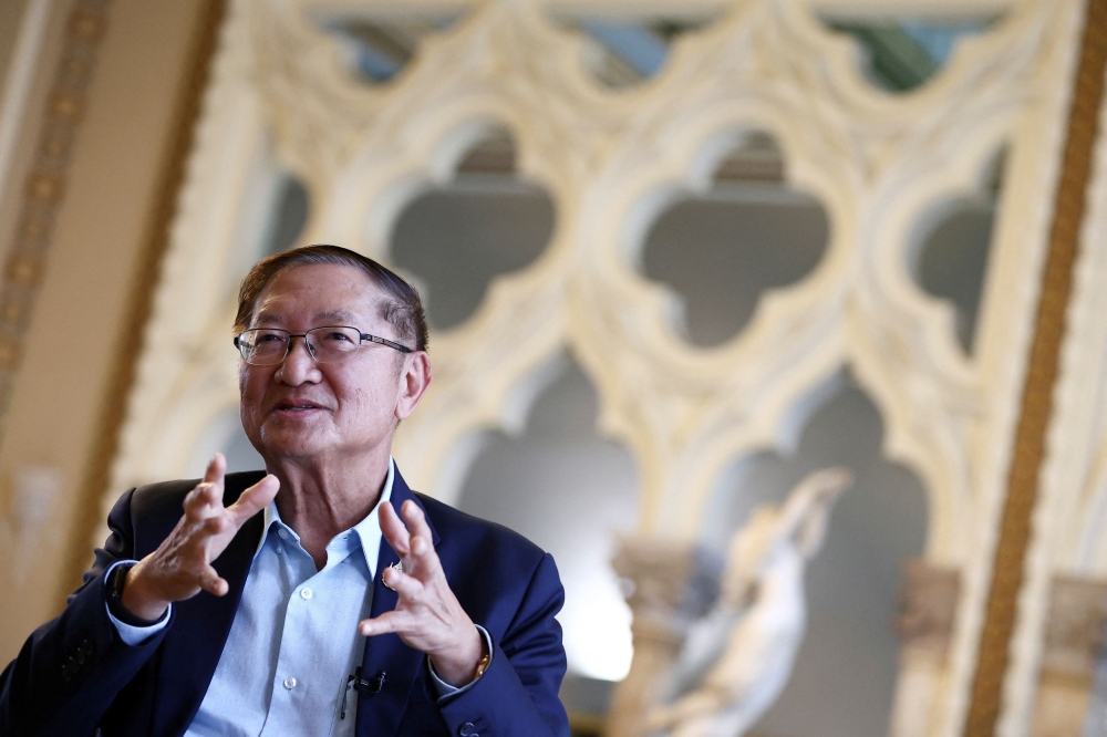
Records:
<instances>
[{"instance_id":1,"label":"blurred brownish pedestal at far right edge, beyond brown-gold border","mask_svg":"<svg viewBox=\"0 0 1107 737\"><path fill-rule=\"evenodd\" d=\"M1049 592L1034 737L1079 737L1107 623L1107 582L1057 577Z\"/></svg>"}]
</instances>

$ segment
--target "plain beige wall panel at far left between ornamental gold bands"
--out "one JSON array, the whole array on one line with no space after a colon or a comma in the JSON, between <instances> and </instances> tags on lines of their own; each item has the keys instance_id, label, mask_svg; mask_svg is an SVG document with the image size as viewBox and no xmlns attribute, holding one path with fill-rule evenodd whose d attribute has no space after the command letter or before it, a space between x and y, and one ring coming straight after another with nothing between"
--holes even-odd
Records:
<instances>
[{"instance_id":1,"label":"plain beige wall panel at far left between ornamental gold bands","mask_svg":"<svg viewBox=\"0 0 1107 737\"><path fill-rule=\"evenodd\" d=\"M4 418L0 481L6 502L13 475L28 466L56 469L62 484L29 553L17 556L22 546L14 544L14 537L0 546L0 589L6 592L0 596L2 662L61 609L71 546L85 544L81 538L87 525L76 519L75 510L83 506L80 492L92 465L132 280L148 239L194 34L206 3L114 0L108 8L108 30L77 134L65 200ZM64 14L55 13L55 21L64 23ZM48 84L54 66L53 59L39 65L38 74ZM28 118L38 113L32 110ZM23 131L21 147L33 146L37 137L35 129ZM15 174L21 180L25 170ZM3 505L3 513L10 516L10 504Z\"/></svg>"}]
</instances>

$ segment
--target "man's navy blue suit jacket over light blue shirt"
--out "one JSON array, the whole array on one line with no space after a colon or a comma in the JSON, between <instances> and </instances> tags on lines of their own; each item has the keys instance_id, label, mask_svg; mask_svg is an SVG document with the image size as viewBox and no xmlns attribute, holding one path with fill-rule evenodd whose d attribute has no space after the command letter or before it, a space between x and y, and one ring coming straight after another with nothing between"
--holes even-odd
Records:
<instances>
[{"instance_id":1,"label":"man's navy blue suit jacket over light blue shirt","mask_svg":"<svg viewBox=\"0 0 1107 737\"><path fill-rule=\"evenodd\" d=\"M229 474L231 504L260 471ZM39 627L0 675L0 735L182 735L199 708L230 632L262 533L258 513L215 561L230 584L227 595L206 592L173 605L168 626L137 646L120 639L105 611L104 571L121 559L139 560L164 540L197 484L168 481L131 489L108 516L111 537L96 550L84 585L62 614ZM362 673L384 671L382 689L359 694L359 737L569 734L558 700L566 658L554 615L565 592L554 559L510 530L464 515L407 488L397 473L396 509L413 499L426 512L446 579L474 622L494 643L488 671L467 692L436 703L426 656L397 635L370 637ZM373 609L395 608L381 571L399 560L383 538Z\"/></svg>"}]
</instances>

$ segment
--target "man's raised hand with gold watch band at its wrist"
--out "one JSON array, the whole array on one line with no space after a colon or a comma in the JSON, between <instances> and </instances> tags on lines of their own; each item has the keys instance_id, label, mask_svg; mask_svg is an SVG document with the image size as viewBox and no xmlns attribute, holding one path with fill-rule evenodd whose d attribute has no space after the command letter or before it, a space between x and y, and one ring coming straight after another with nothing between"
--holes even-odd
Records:
<instances>
[{"instance_id":1,"label":"man's raised hand with gold watch band at its wrist","mask_svg":"<svg viewBox=\"0 0 1107 737\"><path fill-rule=\"evenodd\" d=\"M366 637L395 632L408 647L430 655L439 678L463 686L476 677L484 639L449 590L423 510L408 500L401 512L407 527L391 504L381 505L381 532L403 563L402 572L389 568L381 574L399 596L396 608L363 620L358 631Z\"/></svg>"}]
</instances>

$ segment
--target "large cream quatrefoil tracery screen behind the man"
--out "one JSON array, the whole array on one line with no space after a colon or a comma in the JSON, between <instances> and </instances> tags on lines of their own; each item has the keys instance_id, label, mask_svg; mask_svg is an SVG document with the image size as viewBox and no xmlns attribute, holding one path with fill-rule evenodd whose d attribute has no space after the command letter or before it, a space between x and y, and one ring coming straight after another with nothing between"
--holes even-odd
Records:
<instances>
[{"instance_id":1,"label":"large cream quatrefoil tracery screen behind the man","mask_svg":"<svg viewBox=\"0 0 1107 737\"><path fill-rule=\"evenodd\" d=\"M395 448L413 485L451 500L467 439L517 422L518 398L568 347L596 384L602 428L639 464L640 531L694 540L718 474L784 443L805 399L849 365L883 415L887 455L929 490L927 560L962 572L943 706L925 728L958 734L1079 0L954 3L960 13L1008 12L963 41L930 84L901 96L870 86L855 46L817 12L918 10L907 0L735 0L677 41L656 79L619 92L587 74L580 40L538 0L474 4L449 32L428 37L400 77L375 86L342 68L307 4L318 3L231 3L105 504L126 485L183 473L198 434L236 402L226 274L242 260L267 136L311 195L301 240L389 261L404 205L503 125L520 173L547 188L558 220L531 267L494 281L469 321L434 336L434 385ZM714 166L751 129L779 142L789 181L823 203L830 242L808 278L765 295L737 338L691 347L669 320L674 298L635 261L665 204L710 187ZM928 210L976 189L1004 145L1007 176L970 359L950 308L912 281L908 255ZM1107 496L1107 480L1096 488Z\"/></svg>"}]
</instances>

